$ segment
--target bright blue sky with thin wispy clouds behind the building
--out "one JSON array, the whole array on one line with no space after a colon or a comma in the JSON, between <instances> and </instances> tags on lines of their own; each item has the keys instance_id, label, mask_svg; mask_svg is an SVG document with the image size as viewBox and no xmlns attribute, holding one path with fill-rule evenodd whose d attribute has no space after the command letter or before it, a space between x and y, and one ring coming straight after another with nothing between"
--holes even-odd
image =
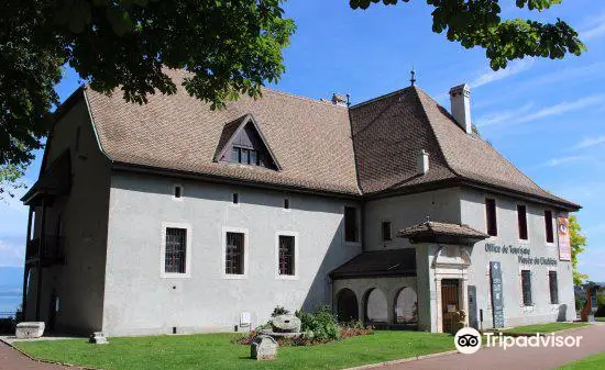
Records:
<instances>
[{"instance_id":1,"label":"bright blue sky with thin wispy clouds behind the building","mask_svg":"<svg viewBox=\"0 0 605 370\"><path fill-rule=\"evenodd\" d=\"M544 13L503 1L504 16L564 19L588 52L563 60L526 58L493 72L483 49L464 49L431 32L425 1L353 11L346 0L292 0L286 15L298 31L285 51L286 74L276 88L310 98L351 93L353 103L409 85L449 108L449 88L472 87L472 116L482 135L542 188L584 206L578 217L588 248L581 271L605 281L605 2L565 0ZM57 91L66 99L79 85L65 71ZM25 181L35 181L40 154ZM0 204L0 266L23 264L26 210Z\"/></svg>"}]
</instances>

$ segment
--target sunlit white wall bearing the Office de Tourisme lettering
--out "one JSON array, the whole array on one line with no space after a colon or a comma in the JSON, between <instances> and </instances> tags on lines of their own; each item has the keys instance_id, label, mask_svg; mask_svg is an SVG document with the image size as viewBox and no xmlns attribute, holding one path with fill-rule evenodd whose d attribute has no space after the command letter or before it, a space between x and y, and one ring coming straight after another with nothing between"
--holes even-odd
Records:
<instances>
[{"instance_id":1,"label":"sunlit white wall bearing the Office de Tourisme lettering","mask_svg":"<svg viewBox=\"0 0 605 370\"><path fill-rule=\"evenodd\" d=\"M505 326L575 319L572 266L571 262L559 261L556 220L553 220L554 243L546 243L543 211L551 210L556 217L556 210L540 204L517 202L515 199L503 195L464 190L461 198L462 223L486 231L485 198L496 199L498 236L477 243L472 248L472 265L469 268L469 283L477 288L477 310L484 312L484 327L492 327L490 261L502 262ZM518 237L517 204L527 206L528 240L519 240ZM517 254L486 251L486 243L529 248L531 257L554 258L558 262L556 267L522 265L519 264ZM531 295L535 305L529 307L522 304L520 278L522 269L531 271ZM558 272L559 304L550 304L549 270Z\"/></svg>"}]
</instances>

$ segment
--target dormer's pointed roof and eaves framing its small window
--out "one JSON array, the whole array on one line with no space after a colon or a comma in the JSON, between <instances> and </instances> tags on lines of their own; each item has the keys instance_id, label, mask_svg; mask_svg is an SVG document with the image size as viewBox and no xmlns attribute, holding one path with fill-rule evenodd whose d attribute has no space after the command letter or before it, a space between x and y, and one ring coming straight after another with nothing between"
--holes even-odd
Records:
<instances>
[{"instance_id":1,"label":"dormer's pointed roof and eaves framing its small window","mask_svg":"<svg viewBox=\"0 0 605 370\"><path fill-rule=\"evenodd\" d=\"M264 167L274 168L276 170L282 169L273 150L271 150L267 139L261 132L252 114L245 114L224 125L219 144L217 145L215 161L229 161L228 158L231 155L230 149L233 145L240 144L235 142L242 136L248 138L249 142L243 144L244 146L250 146L251 148L262 152L264 157L266 157L266 159L264 159L266 161Z\"/></svg>"}]
</instances>

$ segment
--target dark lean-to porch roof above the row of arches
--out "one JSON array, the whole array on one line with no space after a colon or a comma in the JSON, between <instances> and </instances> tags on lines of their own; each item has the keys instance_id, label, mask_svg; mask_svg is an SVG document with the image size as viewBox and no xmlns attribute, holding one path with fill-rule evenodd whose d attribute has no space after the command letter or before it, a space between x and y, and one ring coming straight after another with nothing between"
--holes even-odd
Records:
<instances>
[{"instance_id":1,"label":"dark lean-to porch roof above the row of arches","mask_svg":"<svg viewBox=\"0 0 605 370\"><path fill-rule=\"evenodd\" d=\"M332 270L332 279L416 276L416 249L364 251Z\"/></svg>"}]
</instances>

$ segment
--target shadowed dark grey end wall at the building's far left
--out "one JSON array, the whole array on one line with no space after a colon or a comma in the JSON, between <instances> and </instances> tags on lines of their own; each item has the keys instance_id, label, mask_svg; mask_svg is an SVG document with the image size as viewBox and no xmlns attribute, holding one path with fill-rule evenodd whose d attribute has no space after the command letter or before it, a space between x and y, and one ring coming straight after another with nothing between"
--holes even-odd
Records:
<instances>
[{"instance_id":1,"label":"shadowed dark grey end wall at the building's far left","mask_svg":"<svg viewBox=\"0 0 605 370\"><path fill-rule=\"evenodd\" d=\"M78 126L80 138L76 150ZM56 329L88 335L102 326L109 168L97 145L84 100L56 123L48 145L46 166L70 149L73 175L69 194L57 197L46 211L47 235L57 234L57 220L62 216L66 260L65 265L43 268L41 319L48 319L51 294L55 290L59 300ZM34 236L41 233L41 208L36 208ZM33 268L28 319L35 318L36 280L37 270Z\"/></svg>"}]
</instances>

